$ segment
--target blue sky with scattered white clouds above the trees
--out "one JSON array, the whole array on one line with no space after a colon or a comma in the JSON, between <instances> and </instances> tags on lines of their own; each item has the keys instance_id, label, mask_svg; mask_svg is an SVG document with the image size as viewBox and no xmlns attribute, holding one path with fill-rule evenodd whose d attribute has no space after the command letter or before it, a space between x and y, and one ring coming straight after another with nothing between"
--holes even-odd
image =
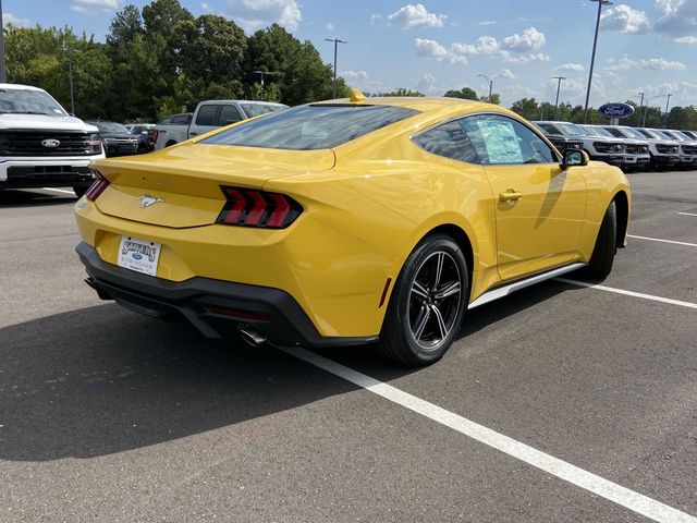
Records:
<instances>
[{"instance_id":1,"label":"blue sky with scattered white clouds above the trees","mask_svg":"<svg viewBox=\"0 0 697 523\"><path fill-rule=\"evenodd\" d=\"M102 40L125 3L145 0L2 0L5 22L70 25ZM348 40L339 71L369 92L418 88L427 95L473 87L496 76L510 105L524 96L583 104L597 4L588 0L182 0L195 15L216 13L247 31L278 22L309 39L327 62L323 38ZM615 1L603 8L591 104L646 93L652 106L697 105L697 0Z\"/></svg>"}]
</instances>

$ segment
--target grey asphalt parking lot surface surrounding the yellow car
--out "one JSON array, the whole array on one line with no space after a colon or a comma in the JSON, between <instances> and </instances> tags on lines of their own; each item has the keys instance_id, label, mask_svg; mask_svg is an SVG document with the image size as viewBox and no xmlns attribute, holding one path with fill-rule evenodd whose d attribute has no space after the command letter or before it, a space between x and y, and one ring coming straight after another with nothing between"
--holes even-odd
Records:
<instances>
[{"instance_id":1,"label":"grey asphalt parking lot surface surrounding the yellow car","mask_svg":"<svg viewBox=\"0 0 697 523\"><path fill-rule=\"evenodd\" d=\"M0 193L0 520L695 521L697 172L628 178L602 287L474 309L423 369L101 302L75 198Z\"/></svg>"}]
</instances>

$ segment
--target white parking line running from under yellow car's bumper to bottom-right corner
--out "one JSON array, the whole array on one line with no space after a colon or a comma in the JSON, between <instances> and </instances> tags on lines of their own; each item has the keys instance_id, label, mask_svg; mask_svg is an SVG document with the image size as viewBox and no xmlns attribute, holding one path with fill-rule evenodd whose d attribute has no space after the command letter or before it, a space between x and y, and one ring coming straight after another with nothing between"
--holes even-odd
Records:
<instances>
[{"instance_id":1,"label":"white parking line running from under yellow car's bumper to bottom-right corner","mask_svg":"<svg viewBox=\"0 0 697 523\"><path fill-rule=\"evenodd\" d=\"M421 400L420 398L404 392L391 385L378 381L377 379L358 373L353 368L348 368L305 349L280 349L288 354L351 381L358 387L392 401L393 403L445 425L447 427L457 430L476 441L488 445L489 447L492 447L508 455L540 469L541 471L564 479L577 487L601 496L604 499L613 501L653 521L664 523L697 523L697 518L686 514L685 512L681 512L680 510L663 504L660 501L656 501L647 496L629 490L626 487L597 476L588 471L572 465L571 463L566 463L559 458L554 458L553 455L509 438L503 434L497 433L484 425L479 425L478 423L447 411L433 403Z\"/></svg>"}]
</instances>

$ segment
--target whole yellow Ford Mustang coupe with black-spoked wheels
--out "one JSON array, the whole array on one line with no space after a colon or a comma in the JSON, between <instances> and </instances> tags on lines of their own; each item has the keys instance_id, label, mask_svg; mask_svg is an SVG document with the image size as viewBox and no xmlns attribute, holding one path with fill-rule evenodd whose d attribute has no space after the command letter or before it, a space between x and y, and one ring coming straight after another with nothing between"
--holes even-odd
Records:
<instances>
[{"instance_id":1,"label":"whole yellow Ford Mustang coupe with black-spoked wheels","mask_svg":"<svg viewBox=\"0 0 697 523\"><path fill-rule=\"evenodd\" d=\"M94 163L77 253L102 299L258 344L424 365L467 309L623 246L622 172L493 105L352 98Z\"/></svg>"}]
</instances>

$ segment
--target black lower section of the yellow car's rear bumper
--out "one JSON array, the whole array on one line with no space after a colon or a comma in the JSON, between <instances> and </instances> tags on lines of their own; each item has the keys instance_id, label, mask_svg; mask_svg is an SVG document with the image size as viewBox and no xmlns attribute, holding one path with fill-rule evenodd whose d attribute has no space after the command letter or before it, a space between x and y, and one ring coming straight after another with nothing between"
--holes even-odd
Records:
<instances>
[{"instance_id":1,"label":"black lower section of the yellow car's rear bumper","mask_svg":"<svg viewBox=\"0 0 697 523\"><path fill-rule=\"evenodd\" d=\"M169 281L108 264L84 242L76 251L87 283L102 300L147 316L185 319L208 338L250 328L279 345L346 346L378 339L321 336L293 296L279 289L201 277Z\"/></svg>"}]
</instances>

